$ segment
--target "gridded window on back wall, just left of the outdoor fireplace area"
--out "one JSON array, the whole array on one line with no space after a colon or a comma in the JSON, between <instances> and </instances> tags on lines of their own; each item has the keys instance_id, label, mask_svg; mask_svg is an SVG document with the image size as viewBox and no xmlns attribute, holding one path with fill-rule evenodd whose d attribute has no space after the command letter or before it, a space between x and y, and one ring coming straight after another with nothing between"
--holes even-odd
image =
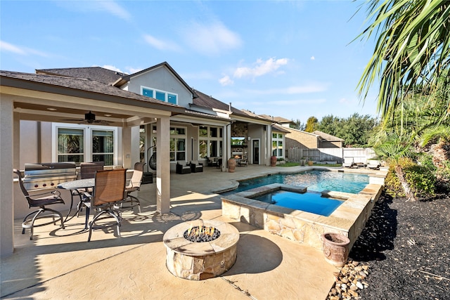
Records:
<instances>
[{"instance_id":1,"label":"gridded window on back wall, just left of the outdoor fireplace area","mask_svg":"<svg viewBox=\"0 0 450 300\"><path fill-rule=\"evenodd\" d=\"M222 156L222 128L198 127L198 158Z\"/></svg>"}]
</instances>

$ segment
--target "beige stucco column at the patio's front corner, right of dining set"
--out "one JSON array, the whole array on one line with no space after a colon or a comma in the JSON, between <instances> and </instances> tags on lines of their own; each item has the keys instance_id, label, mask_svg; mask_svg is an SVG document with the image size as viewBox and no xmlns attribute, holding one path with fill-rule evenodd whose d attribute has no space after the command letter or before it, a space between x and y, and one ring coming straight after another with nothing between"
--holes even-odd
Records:
<instances>
[{"instance_id":1,"label":"beige stucco column at the patio's front corner, right of dining set","mask_svg":"<svg viewBox=\"0 0 450 300\"><path fill-rule=\"evenodd\" d=\"M156 210L170 211L170 118L156 121Z\"/></svg>"}]
</instances>

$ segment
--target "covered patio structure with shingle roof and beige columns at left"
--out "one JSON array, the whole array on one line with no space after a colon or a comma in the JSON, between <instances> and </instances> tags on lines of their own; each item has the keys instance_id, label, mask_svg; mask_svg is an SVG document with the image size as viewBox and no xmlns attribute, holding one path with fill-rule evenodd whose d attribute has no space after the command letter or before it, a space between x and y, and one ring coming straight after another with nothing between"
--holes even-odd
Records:
<instances>
[{"instance_id":1,"label":"covered patio structure with shingle roof and beige columns at left","mask_svg":"<svg viewBox=\"0 0 450 300\"><path fill-rule=\"evenodd\" d=\"M15 199L23 195L14 193L14 169L20 165L20 149L37 153L35 162L47 159L49 145L40 145L20 140L20 121L73 122L84 119L86 112L93 112L110 126L122 128L118 138L122 167L132 169L139 159L139 141L131 139L132 131L139 131L139 125L155 122L158 126L158 161L153 199L156 211L169 212L170 169L169 169L169 126L170 117L184 112L183 107L162 103L159 100L117 89L88 79L54 77L43 74L1 71L0 97L0 203L1 203L1 255L12 254L14 246ZM70 121L73 119L73 121ZM37 135L49 134L44 128ZM34 149L28 149L36 147ZM136 155L137 154L137 155ZM13 254L14 255L14 254Z\"/></svg>"}]
</instances>

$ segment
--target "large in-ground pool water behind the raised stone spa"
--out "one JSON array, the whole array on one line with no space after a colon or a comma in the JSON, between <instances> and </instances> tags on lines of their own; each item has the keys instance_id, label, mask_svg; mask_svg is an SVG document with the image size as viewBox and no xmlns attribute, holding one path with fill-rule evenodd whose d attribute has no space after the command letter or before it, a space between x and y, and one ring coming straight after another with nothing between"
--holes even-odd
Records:
<instances>
[{"instance_id":1,"label":"large in-ground pool water behind the raised stone spa","mask_svg":"<svg viewBox=\"0 0 450 300\"><path fill-rule=\"evenodd\" d=\"M273 174L239 181L238 188L230 192L221 193L221 195L239 193L271 183L306 186L309 191L334 190L336 192L357 194L368 185L369 177L366 174L323 170L303 171L296 174Z\"/></svg>"}]
</instances>

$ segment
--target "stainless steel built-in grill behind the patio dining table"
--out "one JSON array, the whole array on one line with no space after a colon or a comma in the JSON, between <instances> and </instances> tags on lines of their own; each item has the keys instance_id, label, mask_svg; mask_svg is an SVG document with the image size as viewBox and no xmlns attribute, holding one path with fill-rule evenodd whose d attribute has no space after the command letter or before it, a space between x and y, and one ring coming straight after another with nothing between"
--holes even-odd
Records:
<instances>
[{"instance_id":1,"label":"stainless steel built-in grill behind the patio dining table","mask_svg":"<svg viewBox=\"0 0 450 300\"><path fill-rule=\"evenodd\" d=\"M23 173L26 190L56 188L59 183L77 179L75 162L25 164Z\"/></svg>"}]
</instances>

